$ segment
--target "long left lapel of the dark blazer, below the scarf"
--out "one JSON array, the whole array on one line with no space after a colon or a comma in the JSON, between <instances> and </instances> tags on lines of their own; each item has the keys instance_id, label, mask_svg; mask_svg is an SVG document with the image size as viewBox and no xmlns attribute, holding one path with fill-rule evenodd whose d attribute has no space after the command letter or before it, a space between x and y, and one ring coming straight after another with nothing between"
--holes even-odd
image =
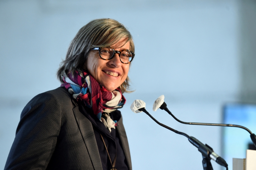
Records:
<instances>
[{"instance_id":1,"label":"long left lapel of the dark blazer, below the scarf","mask_svg":"<svg viewBox=\"0 0 256 170\"><path fill-rule=\"evenodd\" d=\"M100 154L97 147L95 135L92 128L92 123L79 111L78 106L75 104L73 112L76 122L84 139L84 144L88 150L92 165L95 170L102 170Z\"/></svg>"}]
</instances>

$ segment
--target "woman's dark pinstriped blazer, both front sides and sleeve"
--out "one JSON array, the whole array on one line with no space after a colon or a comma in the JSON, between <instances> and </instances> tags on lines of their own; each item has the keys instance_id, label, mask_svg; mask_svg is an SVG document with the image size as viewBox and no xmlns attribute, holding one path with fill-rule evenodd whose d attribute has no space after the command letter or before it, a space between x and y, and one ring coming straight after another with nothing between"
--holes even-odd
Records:
<instances>
[{"instance_id":1,"label":"woman's dark pinstriped blazer, both front sides and sleeve","mask_svg":"<svg viewBox=\"0 0 256 170\"><path fill-rule=\"evenodd\" d=\"M64 87L38 94L23 109L5 170L102 170L92 123ZM132 170L122 118L119 133Z\"/></svg>"}]
</instances>

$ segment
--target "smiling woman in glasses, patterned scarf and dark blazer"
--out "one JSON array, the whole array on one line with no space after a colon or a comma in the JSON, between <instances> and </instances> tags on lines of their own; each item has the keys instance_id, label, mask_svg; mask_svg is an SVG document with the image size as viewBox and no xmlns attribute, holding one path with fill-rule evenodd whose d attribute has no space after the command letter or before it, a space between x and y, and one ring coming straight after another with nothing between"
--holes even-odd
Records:
<instances>
[{"instance_id":1,"label":"smiling woman in glasses, patterned scarf and dark blazer","mask_svg":"<svg viewBox=\"0 0 256 170\"><path fill-rule=\"evenodd\" d=\"M132 170L120 111L134 45L113 19L82 27L57 72L61 87L23 109L4 169Z\"/></svg>"}]
</instances>

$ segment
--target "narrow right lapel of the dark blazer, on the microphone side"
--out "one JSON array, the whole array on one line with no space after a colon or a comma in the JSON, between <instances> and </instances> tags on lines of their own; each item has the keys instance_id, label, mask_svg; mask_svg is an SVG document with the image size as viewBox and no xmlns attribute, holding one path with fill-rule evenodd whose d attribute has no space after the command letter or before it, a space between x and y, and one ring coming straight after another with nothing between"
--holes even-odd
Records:
<instances>
[{"instance_id":1,"label":"narrow right lapel of the dark blazer, on the microphone side","mask_svg":"<svg viewBox=\"0 0 256 170\"><path fill-rule=\"evenodd\" d=\"M128 168L129 170L132 170L132 161L131 161L131 154L130 154L130 150L129 150L129 144L128 144L128 140L127 140L127 136L124 130L124 125L123 125L123 118L121 117L120 120L118 121L118 126L116 127L120 139L121 139L121 143L123 146L123 150L124 150L124 155L125 158L127 160L128 163Z\"/></svg>"}]
</instances>

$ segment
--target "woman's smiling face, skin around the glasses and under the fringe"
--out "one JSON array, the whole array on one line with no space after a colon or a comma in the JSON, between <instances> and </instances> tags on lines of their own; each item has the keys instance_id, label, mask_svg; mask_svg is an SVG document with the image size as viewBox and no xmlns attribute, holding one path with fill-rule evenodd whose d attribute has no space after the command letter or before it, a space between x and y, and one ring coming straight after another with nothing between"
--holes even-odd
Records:
<instances>
[{"instance_id":1,"label":"woman's smiling face, skin around the glasses and under the fringe","mask_svg":"<svg viewBox=\"0 0 256 170\"><path fill-rule=\"evenodd\" d=\"M116 44L111 45L114 50L130 50L130 42L123 38ZM130 64L121 63L118 54L110 60L100 58L98 50L91 50L87 57L85 67L96 81L112 92L119 87L127 78ZM108 73L108 74L107 74Z\"/></svg>"}]
</instances>

